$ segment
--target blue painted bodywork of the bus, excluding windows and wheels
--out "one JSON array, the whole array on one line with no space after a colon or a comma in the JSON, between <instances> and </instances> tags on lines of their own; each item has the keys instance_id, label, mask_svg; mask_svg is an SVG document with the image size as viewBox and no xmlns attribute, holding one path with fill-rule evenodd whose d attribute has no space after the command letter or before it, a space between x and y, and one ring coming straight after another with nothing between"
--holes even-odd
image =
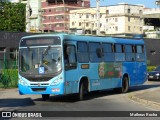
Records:
<instances>
[{"instance_id":1,"label":"blue painted bodywork of the bus, excluding windows and wheels","mask_svg":"<svg viewBox=\"0 0 160 120\"><path fill-rule=\"evenodd\" d=\"M128 45L144 45L143 40L131 40L123 38L112 37L93 37L93 36L76 36L76 35L46 35L47 36L59 36L62 39L62 51L63 42L67 41L68 44L74 45L77 50L78 41L100 42L100 43L112 43L112 44L128 44ZM43 35L36 35L24 38L43 37ZM76 51L77 53L77 51ZM62 73L53 77L44 83L48 85L42 85L43 82L37 83L35 86L30 84L29 79L24 79L19 74L19 79L27 81L28 85L18 84L20 94L72 94L79 92L80 81L82 78L87 77L89 91L104 90L110 88L122 87L122 79L125 74L129 78L129 86L135 86L143 84L146 81L146 60L143 62L136 61L111 61L111 62L88 62L79 63L77 60L77 66L73 69L65 69L65 61L62 52ZM116 53L117 54L117 53ZM124 56L118 55L121 59L125 59ZM60 77L62 82L58 85L51 85L53 81ZM20 80L19 80L20 81Z\"/></svg>"}]
</instances>

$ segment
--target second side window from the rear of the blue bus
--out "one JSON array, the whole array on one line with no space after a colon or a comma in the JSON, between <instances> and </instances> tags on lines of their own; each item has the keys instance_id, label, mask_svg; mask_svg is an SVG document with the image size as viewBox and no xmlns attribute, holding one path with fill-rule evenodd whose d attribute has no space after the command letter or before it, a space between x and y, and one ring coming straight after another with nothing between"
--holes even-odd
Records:
<instances>
[{"instance_id":1,"label":"second side window from the rear of the blue bus","mask_svg":"<svg viewBox=\"0 0 160 120\"><path fill-rule=\"evenodd\" d=\"M126 61L135 61L133 45L125 45Z\"/></svg>"}]
</instances>

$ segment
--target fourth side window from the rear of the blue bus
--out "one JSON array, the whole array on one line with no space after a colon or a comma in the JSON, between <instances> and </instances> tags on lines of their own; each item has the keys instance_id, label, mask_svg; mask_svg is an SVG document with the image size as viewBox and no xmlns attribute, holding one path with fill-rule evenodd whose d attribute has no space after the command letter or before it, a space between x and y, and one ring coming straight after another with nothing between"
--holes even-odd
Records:
<instances>
[{"instance_id":1,"label":"fourth side window from the rear of the blue bus","mask_svg":"<svg viewBox=\"0 0 160 120\"><path fill-rule=\"evenodd\" d=\"M104 52L104 61L114 61L113 45L110 43L102 43L102 48Z\"/></svg>"}]
</instances>

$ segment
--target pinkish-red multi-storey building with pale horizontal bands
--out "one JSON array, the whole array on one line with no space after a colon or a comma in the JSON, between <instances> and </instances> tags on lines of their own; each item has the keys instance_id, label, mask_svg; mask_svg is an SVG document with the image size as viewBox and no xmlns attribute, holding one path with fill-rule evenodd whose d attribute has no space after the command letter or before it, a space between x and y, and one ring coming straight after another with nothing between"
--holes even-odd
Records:
<instances>
[{"instance_id":1,"label":"pinkish-red multi-storey building with pale horizontal bands","mask_svg":"<svg viewBox=\"0 0 160 120\"><path fill-rule=\"evenodd\" d=\"M42 27L44 32L68 32L69 11L90 7L90 0L42 0Z\"/></svg>"}]
</instances>

